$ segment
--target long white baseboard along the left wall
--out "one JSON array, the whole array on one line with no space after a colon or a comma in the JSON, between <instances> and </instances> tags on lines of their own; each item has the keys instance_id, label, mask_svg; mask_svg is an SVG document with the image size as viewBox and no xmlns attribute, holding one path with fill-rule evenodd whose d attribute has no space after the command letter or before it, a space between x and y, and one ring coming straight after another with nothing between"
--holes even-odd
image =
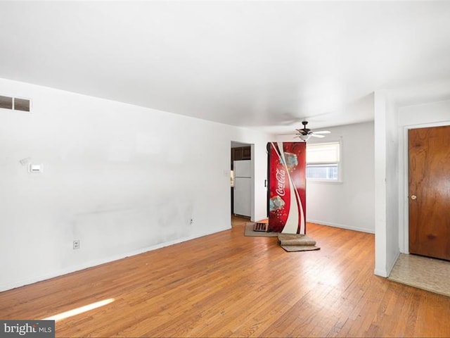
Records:
<instances>
[{"instance_id":1,"label":"long white baseboard along the left wall","mask_svg":"<svg viewBox=\"0 0 450 338\"><path fill-rule=\"evenodd\" d=\"M43 280L49 280L49 279L54 278L54 277L60 277L62 275L67 275L68 273L75 273L75 271L84 270L86 268L92 268L92 267L94 267L96 265L110 263L110 262L117 261L117 260L122 259L122 258L127 258L127 257L130 257L130 256L136 256L136 255L139 255L139 254L147 252L147 251L153 251L153 250L156 250L156 249L163 248L165 246L169 246L169 245L178 244L178 243L181 243L181 242L190 241L191 239L207 236L208 234L214 234L216 232L221 232L221 231L224 231L224 230L229 230L230 228L231 227L226 227L224 229L214 230L212 232L205 232L205 233L201 233L201 234L198 234L198 235L195 235L195 236L189 236L189 237L184 237L184 238L180 238L180 239L175 239L173 241L164 242L164 243L156 244L156 245L153 245L153 246L148 246L146 248L142 248L142 249L139 249L139 250L129 251L127 253L121 253L119 255L110 256L110 257L107 257L107 258L101 258L101 259L97 259L97 260L94 260L94 261L89 261L89 262L86 262L86 263L82 263L82 264L79 264L79 265L74 265L74 266L71 266L69 268L56 270L53 273L47 273L47 274L44 274L44 275L30 277L30 278L26 278L24 280L18 280L17 282L1 284L0 285L0 292L6 291L6 290L10 290L10 289L15 289L16 287L23 287L25 285L33 284L33 283L36 283L36 282L41 282Z\"/></svg>"}]
</instances>

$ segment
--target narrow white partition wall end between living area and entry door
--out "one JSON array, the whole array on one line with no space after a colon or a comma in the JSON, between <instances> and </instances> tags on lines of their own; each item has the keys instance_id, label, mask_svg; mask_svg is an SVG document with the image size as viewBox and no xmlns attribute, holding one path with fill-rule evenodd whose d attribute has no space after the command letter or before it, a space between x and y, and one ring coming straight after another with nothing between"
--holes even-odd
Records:
<instances>
[{"instance_id":1,"label":"narrow white partition wall end between living area and entry door","mask_svg":"<svg viewBox=\"0 0 450 338\"><path fill-rule=\"evenodd\" d=\"M375 275L387 277L399 256L399 119L387 91L375 92Z\"/></svg>"}]
</instances>

